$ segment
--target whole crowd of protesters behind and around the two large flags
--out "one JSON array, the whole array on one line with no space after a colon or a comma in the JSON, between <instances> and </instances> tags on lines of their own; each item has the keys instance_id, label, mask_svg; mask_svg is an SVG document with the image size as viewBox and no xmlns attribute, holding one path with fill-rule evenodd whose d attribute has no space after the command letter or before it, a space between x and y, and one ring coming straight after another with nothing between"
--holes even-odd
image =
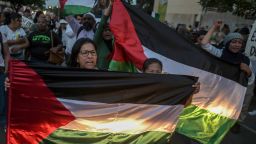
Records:
<instances>
[{"instance_id":1,"label":"whole crowd of protesters behind and around the two large flags","mask_svg":"<svg viewBox=\"0 0 256 144\"><path fill-rule=\"evenodd\" d=\"M38 64L51 64L50 53L62 52L64 59L61 66L78 67L81 69L107 70L113 52L114 37L107 23L111 13L112 2L108 4L100 1L91 12L57 18L53 13L44 14L37 11L31 27L22 27L22 19L32 19L29 9L22 14L10 9L0 15L0 99L1 115L6 111L5 86L10 87L6 79L8 61L10 58L33 61ZM97 23L97 18L101 17ZM221 29L222 27L222 29ZM240 69L249 78L248 94L244 103L244 112L247 110L253 96L254 71L250 59L243 54L245 41L249 35L249 28L237 29L230 32L227 24L216 21L208 29L185 27L178 25L177 33L200 46L212 55L230 63L240 64ZM144 62L142 72L162 74L163 65L156 58L149 58ZM200 90L200 83L193 85L194 93ZM254 114L254 113L252 113Z\"/></svg>"}]
</instances>

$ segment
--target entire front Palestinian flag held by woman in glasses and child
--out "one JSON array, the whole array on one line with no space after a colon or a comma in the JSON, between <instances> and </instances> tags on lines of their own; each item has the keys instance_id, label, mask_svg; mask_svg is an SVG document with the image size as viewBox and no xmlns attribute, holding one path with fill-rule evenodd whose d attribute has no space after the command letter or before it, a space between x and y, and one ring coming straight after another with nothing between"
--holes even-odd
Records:
<instances>
[{"instance_id":1,"label":"entire front Palestinian flag held by woman in glasses and child","mask_svg":"<svg viewBox=\"0 0 256 144\"><path fill-rule=\"evenodd\" d=\"M8 144L165 144L197 78L10 63Z\"/></svg>"}]
</instances>

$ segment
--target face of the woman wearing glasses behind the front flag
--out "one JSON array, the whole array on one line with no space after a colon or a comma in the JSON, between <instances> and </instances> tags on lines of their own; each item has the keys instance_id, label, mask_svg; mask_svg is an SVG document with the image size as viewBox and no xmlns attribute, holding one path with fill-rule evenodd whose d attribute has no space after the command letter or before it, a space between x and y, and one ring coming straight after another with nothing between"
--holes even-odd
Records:
<instances>
[{"instance_id":1,"label":"face of the woman wearing glasses behind the front flag","mask_svg":"<svg viewBox=\"0 0 256 144\"><path fill-rule=\"evenodd\" d=\"M91 43L83 44L77 56L77 63L80 68L96 69L97 53L95 47Z\"/></svg>"}]
</instances>

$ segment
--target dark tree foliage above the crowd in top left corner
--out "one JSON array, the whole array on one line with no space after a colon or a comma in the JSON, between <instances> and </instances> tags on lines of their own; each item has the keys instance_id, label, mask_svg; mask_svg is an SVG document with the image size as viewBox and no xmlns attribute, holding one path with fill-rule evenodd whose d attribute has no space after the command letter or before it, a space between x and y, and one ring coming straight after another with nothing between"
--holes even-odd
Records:
<instances>
[{"instance_id":1,"label":"dark tree foliage above the crowd in top left corner","mask_svg":"<svg viewBox=\"0 0 256 144\"><path fill-rule=\"evenodd\" d=\"M42 7L45 4L45 0L4 0L11 3L13 9L18 12L22 6L30 7Z\"/></svg>"}]
</instances>

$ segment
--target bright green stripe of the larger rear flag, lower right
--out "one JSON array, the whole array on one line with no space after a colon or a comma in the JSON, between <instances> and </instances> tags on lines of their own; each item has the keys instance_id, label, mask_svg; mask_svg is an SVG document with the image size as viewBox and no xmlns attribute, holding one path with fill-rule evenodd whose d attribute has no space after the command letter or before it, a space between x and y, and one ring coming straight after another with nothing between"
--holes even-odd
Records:
<instances>
[{"instance_id":1,"label":"bright green stripe of the larger rear flag, lower right","mask_svg":"<svg viewBox=\"0 0 256 144\"><path fill-rule=\"evenodd\" d=\"M218 144L235 122L236 120L190 105L180 115L176 131L203 144Z\"/></svg>"}]
</instances>

